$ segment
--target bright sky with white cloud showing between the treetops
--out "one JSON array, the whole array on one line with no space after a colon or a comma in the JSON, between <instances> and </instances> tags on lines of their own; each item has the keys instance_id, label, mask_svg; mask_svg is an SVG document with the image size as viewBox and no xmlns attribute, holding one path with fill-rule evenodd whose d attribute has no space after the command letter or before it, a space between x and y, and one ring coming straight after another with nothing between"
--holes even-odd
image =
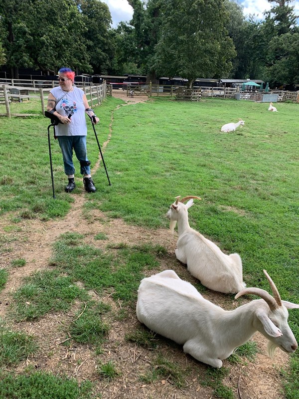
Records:
<instances>
[{"instance_id":1,"label":"bright sky with white cloud showing between the treetops","mask_svg":"<svg viewBox=\"0 0 299 399\"><path fill-rule=\"evenodd\" d=\"M129 22L132 19L133 8L127 0L101 0L105 2L111 13L112 26L117 27L121 21ZM244 15L255 14L256 19L263 18L263 12L269 10L275 3L269 3L267 0L238 0L239 4L244 7ZM292 1L291 5L295 5L295 13L299 15L299 1Z\"/></svg>"}]
</instances>

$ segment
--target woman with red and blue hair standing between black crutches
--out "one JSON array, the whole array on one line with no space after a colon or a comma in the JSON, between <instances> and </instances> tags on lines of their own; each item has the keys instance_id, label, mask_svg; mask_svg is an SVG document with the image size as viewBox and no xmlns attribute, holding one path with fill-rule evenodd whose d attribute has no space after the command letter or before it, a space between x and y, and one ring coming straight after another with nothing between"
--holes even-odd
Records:
<instances>
[{"instance_id":1,"label":"woman with red and blue hair standing between black crutches","mask_svg":"<svg viewBox=\"0 0 299 399\"><path fill-rule=\"evenodd\" d=\"M50 90L47 111L58 117L61 123L55 128L55 133L62 151L64 172L68 177L65 187L71 193L76 187L75 168L73 164L73 149L80 162L80 171L83 183L88 193L94 193L96 188L90 175L90 162L87 158L86 136L87 126L85 112L98 123L99 118L89 108L84 91L74 86L75 72L70 68L61 68L58 71L59 86Z\"/></svg>"}]
</instances>

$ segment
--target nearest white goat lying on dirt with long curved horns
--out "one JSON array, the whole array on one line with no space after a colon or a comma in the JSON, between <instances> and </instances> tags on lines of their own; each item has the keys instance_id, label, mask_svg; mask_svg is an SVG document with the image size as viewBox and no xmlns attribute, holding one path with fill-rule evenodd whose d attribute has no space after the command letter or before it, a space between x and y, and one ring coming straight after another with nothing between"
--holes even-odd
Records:
<instances>
[{"instance_id":1,"label":"nearest white goat lying on dirt with long curved horns","mask_svg":"<svg viewBox=\"0 0 299 399\"><path fill-rule=\"evenodd\" d=\"M212 367L222 367L222 360L257 331L269 340L270 357L277 347L293 353L298 344L288 325L287 309L298 309L299 305L282 301L266 270L264 273L274 297L260 288L246 288L235 298L254 294L262 299L227 311L204 299L173 270L162 271L141 281L136 307L138 320L150 330L183 345L185 353Z\"/></svg>"}]
</instances>

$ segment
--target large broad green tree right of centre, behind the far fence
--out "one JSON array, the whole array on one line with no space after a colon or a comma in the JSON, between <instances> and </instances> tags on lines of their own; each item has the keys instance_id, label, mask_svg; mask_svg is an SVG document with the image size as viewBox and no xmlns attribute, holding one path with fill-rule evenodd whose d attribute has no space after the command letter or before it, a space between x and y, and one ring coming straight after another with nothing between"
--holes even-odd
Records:
<instances>
[{"instance_id":1,"label":"large broad green tree right of centre, behind the far fence","mask_svg":"<svg viewBox=\"0 0 299 399\"><path fill-rule=\"evenodd\" d=\"M236 52L225 28L223 0L164 0L161 11L161 38L154 55L158 75L181 76L191 87L197 77L230 72Z\"/></svg>"}]
</instances>

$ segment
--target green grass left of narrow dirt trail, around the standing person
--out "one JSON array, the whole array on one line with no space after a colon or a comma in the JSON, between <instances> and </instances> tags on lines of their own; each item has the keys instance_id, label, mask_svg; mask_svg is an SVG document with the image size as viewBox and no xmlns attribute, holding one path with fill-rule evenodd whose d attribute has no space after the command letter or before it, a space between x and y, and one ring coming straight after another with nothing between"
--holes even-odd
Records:
<instances>
[{"instance_id":1,"label":"green grass left of narrow dirt trail, around the standing person","mask_svg":"<svg viewBox=\"0 0 299 399\"><path fill-rule=\"evenodd\" d=\"M97 125L101 145L107 140L109 134L111 111L120 103L122 103L121 100L110 98L110 101L104 101L103 105L95 108L101 117L101 122ZM37 115L10 119L0 117L0 159L2 161L0 163L0 214L14 211L20 217L29 219L64 216L70 209L73 199L64 192L67 178L63 170L59 144L53 138L53 128L50 128L56 200L52 198L47 138L47 127L50 121L41 115L38 102L23 102L15 106L26 111L28 107L32 107ZM87 151L93 167L98 159L99 149L89 118L87 118L87 126ZM80 177L80 165L75 156L74 164L76 177ZM80 180L82 183L82 179Z\"/></svg>"}]
</instances>

